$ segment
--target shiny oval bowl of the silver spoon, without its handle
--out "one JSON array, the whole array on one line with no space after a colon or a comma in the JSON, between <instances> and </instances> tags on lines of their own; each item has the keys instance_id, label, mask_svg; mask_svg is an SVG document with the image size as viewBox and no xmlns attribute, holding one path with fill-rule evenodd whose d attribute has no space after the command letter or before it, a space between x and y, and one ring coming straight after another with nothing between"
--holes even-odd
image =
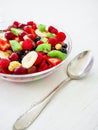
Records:
<instances>
[{"instance_id":1,"label":"shiny oval bowl of the silver spoon, without its handle","mask_svg":"<svg viewBox=\"0 0 98 130\"><path fill-rule=\"evenodd\" d=\"M80 79L87 75L92 68L94 58L91 51L77 55L67 66L67 75L71 79Z\"/></svg>"}]
</instances>

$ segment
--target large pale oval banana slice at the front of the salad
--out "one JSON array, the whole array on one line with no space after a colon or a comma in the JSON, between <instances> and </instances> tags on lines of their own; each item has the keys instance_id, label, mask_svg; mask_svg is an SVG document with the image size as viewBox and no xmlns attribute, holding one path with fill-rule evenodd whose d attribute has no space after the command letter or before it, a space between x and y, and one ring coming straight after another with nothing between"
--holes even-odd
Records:
<instances>
[{"instance_id":1,"label":"large pale oval banana slice at the front of the salad","mask_svg":"<svg viewBox=\"0 0 98 130\"><path fill-rule=\"evenodd\" d=\"M37 52L35 51L29 52L22 59L22 66L26 69L30 68L35 63L37 57L38 57Z\"/></svg>"}]
</instances>

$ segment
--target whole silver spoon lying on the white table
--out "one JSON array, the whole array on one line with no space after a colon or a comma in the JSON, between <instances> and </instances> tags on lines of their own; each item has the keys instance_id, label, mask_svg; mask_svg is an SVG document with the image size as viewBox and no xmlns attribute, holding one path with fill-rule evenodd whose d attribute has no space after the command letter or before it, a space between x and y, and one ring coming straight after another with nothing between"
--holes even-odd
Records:
<instances>
[{"instance_id":1,"label":"whole silver spoon lying on the white table","mask_svg":"<svg viewBox=\"0 0 98 130\"><path fill-rule=\"evenodd\" d=\"M78 54L67 66L68 77L63 80L57 87L55 87L46 97L39 102L35 103L29 110L27 110L22 116L20 116L14 126L13 130L25 130L33 121L39 116L45 106L49 103L53 95L65 84L72 79L80 79L87 75L93 65L92 52L87 50Z\"/></svg>"}]
</instances>

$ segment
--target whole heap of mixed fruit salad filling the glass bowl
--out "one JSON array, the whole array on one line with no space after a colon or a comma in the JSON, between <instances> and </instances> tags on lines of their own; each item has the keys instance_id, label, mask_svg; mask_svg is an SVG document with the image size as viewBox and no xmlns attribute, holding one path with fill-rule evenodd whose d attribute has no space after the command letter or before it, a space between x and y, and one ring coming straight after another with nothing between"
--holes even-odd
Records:
<instances>
[{"instance_id":1,"label":"whole heap of mixed fruit salad filling the glass bowl","mask_svg":"<svg viewBox=\"0 0 98 130\"><path fill-rule=\"evenodd\" d=\"M0 73L32 74L50 69L67 57L66 34L33 21L14 21L0 32Z\"/></svg>"}]
</instances>

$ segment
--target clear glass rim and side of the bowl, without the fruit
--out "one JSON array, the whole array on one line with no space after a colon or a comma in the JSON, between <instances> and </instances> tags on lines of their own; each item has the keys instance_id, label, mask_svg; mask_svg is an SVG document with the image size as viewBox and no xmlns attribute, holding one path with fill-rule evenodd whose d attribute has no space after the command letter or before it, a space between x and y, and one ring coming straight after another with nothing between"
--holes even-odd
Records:
<instances>
[{"instance_id":1,"label":"clear glass rim and side of the bowl, without the fruit","mask_svg":"<svg viewBox=\"0 0 98 130\"><path fill-rule=\"evenodd\" d=\"M68 57L71 52L72 42L71 42L70 36L66 32L65 32L65 34L66 34L66 39L65 39L64 43L66 43L68 45L68 47L67 47L67 57ZM41 71L41 72L36 72L36 73L32 73L32 74L23 74L23 75L0 73L0 77L4 80L13 81L13 82L28 82L28 81L39 80L46 76L49 76L50 74L54 73L57 69L59 69L61 67L61 65L66 62L66 58L58 65L56 65L50 69Z\"/></svg>"}]
</instances>

